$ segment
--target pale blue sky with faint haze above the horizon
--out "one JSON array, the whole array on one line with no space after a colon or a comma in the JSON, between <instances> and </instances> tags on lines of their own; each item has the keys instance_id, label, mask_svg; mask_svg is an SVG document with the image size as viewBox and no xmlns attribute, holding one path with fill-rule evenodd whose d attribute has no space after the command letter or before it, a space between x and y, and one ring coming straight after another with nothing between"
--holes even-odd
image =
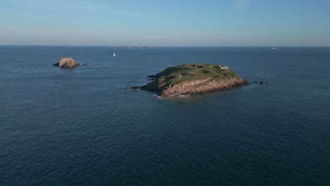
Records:
<instances>
[{"instance_id":1,"label":"pale blue sky with faint haze above the horizon","mask_svg":"<svg viewBox=\"0 0 330 186\"><path fill-rule=\"evenodd\" d=\"M0 44L330 46L330 0L0 0Z\"/></svg>"}]
</instances>

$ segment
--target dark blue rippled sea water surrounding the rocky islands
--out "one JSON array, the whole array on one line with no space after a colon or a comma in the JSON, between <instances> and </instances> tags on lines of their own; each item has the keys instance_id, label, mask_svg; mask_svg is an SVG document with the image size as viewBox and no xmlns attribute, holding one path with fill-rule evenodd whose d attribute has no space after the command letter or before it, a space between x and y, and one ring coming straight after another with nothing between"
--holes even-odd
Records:
<instances>
[{"instance_id":1,"label":"dark blue rippled sea water surrounding the rocky islands","mask_svg":"<svg viewBox=\"0 0 330 186\"><path fill-rule=\"evenodd\" d=\"M0 185L330 185L330 48L0 46ZM73 56L80 66L52 66ZM147 75L250 84L159 99Z\"/></svg>"}]
</instances>

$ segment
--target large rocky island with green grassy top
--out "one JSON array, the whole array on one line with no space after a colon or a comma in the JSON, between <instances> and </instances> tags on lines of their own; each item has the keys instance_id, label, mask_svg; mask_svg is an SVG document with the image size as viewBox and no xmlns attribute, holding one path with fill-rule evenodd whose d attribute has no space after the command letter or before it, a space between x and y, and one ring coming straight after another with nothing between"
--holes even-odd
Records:
<instances>
[{"instance_id":1,"label":"large rocky island with green grassy top","mask_svg":"<svg viewBox=\"0 0 330 186\"><path fill-rule=\"evenodd\" d=\"M247 85L247 81L229 70L228 66L216 64L187 63L166 68L148 77L152 78L152 82L142 87L130 88L154 91L160 97L173 98Z\"/></svg>"}]
</instances>

